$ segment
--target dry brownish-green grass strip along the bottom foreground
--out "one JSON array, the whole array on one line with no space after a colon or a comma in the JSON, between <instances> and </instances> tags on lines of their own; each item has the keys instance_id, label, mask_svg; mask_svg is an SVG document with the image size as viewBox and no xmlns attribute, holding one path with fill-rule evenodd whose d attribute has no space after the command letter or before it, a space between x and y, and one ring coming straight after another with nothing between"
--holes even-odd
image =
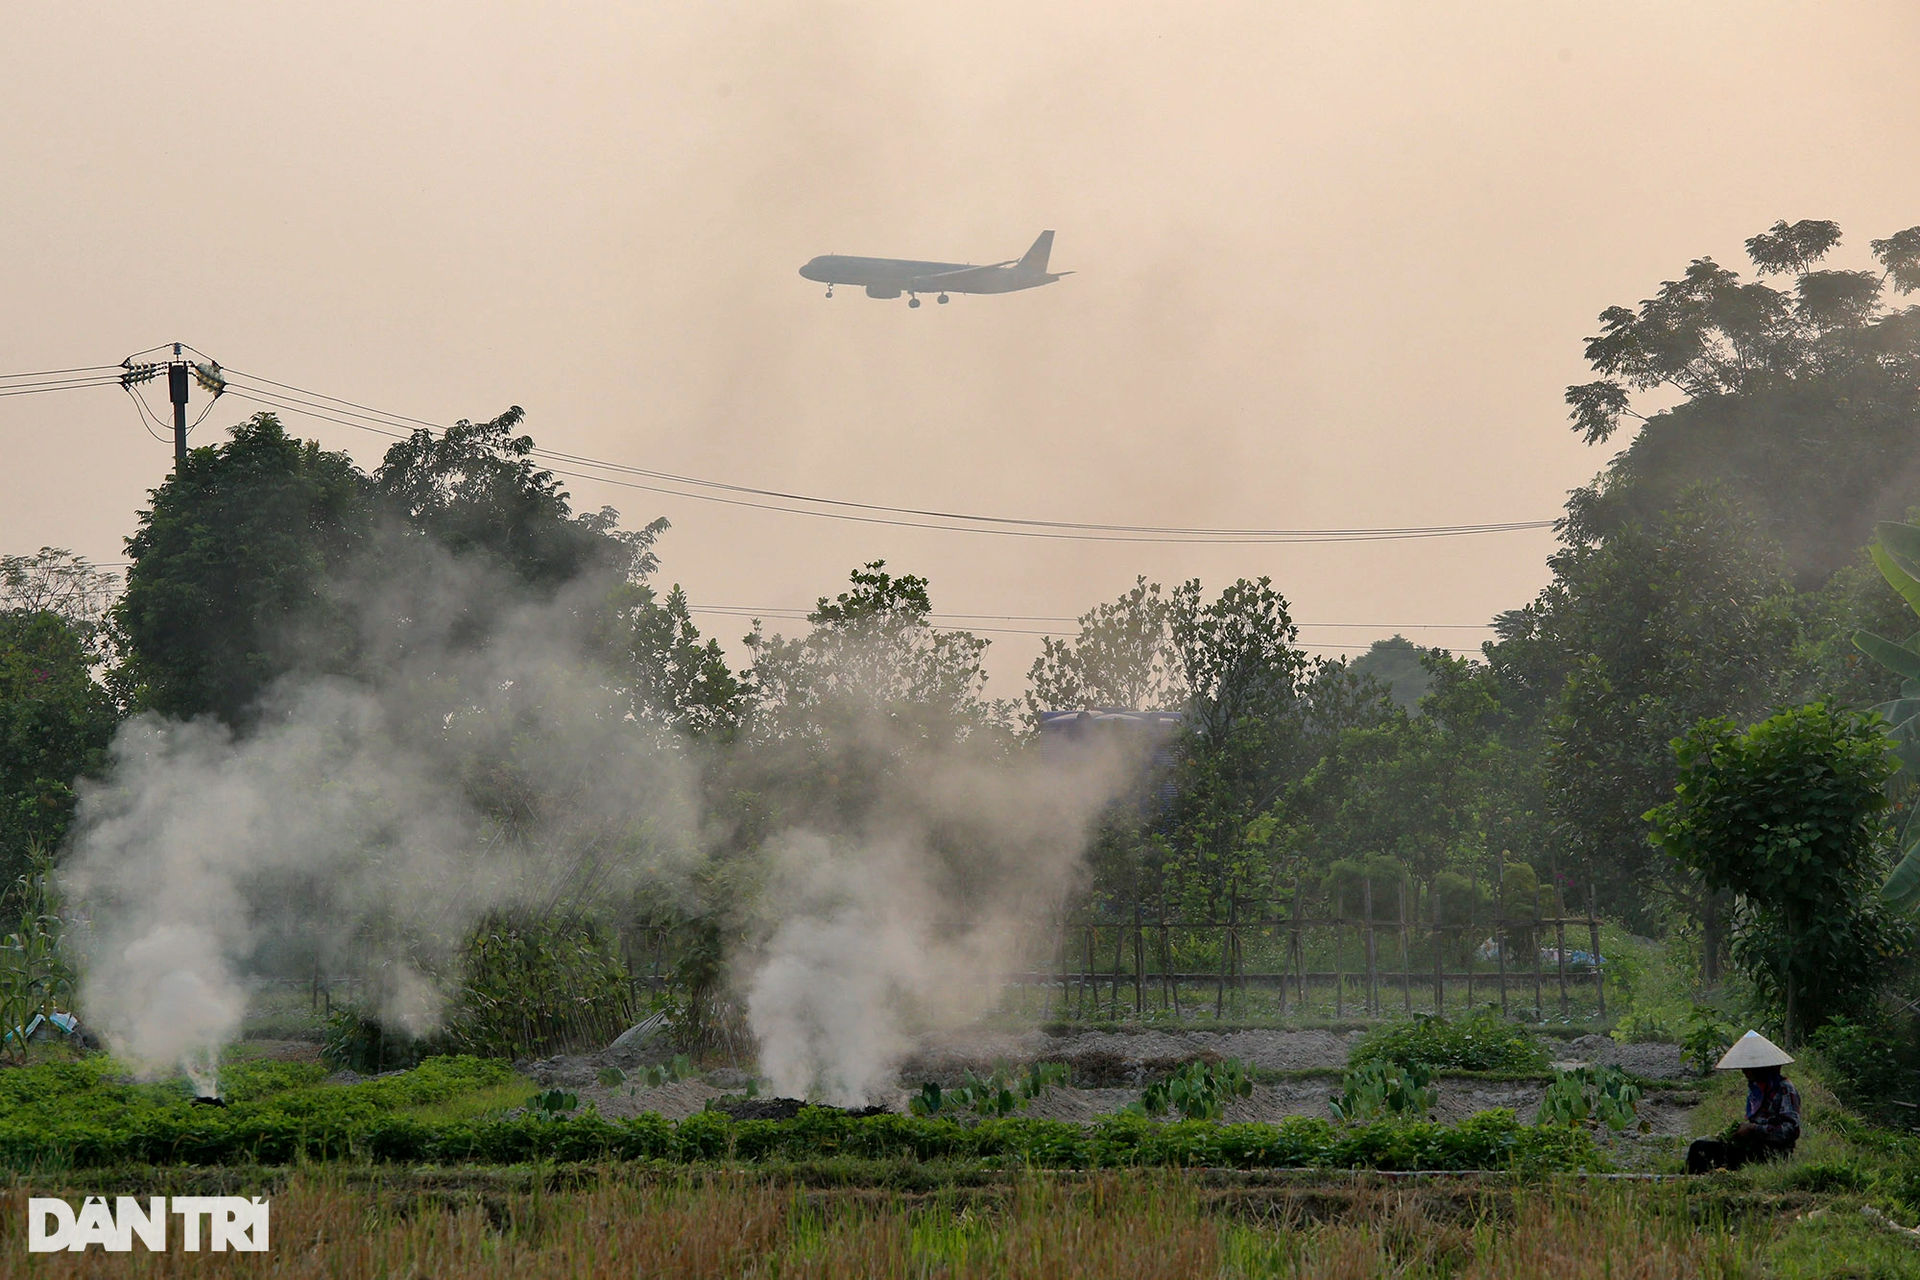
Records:
<instances>
[{"instance_id":1,"label":"dry brownish-green grass strip along the bottom foreground","mask_svg":"<svg viewBox=\"0 0 1920 1280\"><path fill-rule=\"evenodd\" d=\"M19 1276L1920 1276L1920 1247L1857 1207L1732 1184L1102 1173L899 1194L743 1171L309 1169L276 1178L269 1255L115 1259L27 1255L23 1196L0 1205Z\"/></svg>"}]
</instances>

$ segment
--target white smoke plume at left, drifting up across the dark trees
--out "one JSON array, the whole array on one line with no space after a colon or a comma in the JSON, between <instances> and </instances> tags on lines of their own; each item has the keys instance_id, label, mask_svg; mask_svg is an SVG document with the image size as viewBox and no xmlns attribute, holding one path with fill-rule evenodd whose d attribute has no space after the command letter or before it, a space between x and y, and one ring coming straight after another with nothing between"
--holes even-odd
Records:
<instances>
[{"instance_id":1,"label":"white smoke plume at left, drifting up across the dark trees","mask_svg":"<svg viewBox=\"0 0 1920 1280\"><path fill-rule=\"evenodd\" d=\"M61 871L86 913L81 1004L117 1054L204 1086L238 1036L250 956L286 942L376 973L380 1015L428 1031L430 969L488 912L672 887L697 860L691 771L584 656L586 603L513 603L480 566L434 570L384 672L286 679L242 737L121 727ZM472 599L497 612L482 649L447 643ZM507 827L474 779L545 804Z\"/></svg>"}]
</instances>

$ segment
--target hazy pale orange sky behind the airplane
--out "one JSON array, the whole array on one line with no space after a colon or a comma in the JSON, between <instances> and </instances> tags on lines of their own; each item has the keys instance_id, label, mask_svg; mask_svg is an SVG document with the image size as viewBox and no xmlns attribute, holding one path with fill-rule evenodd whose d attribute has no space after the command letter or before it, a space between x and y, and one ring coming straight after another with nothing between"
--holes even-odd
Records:
<instances>
[{"instance_id":1,"label":"hazy pale orange sky behind the airplane","mask_svg":"<svg viewBox=\"0 0 1920 1280\"><path fill-rule=\"evenodd\" d=\"M852 501L1179 526L1549 518L1582 338L1774 219L1920 223L1920 6L15 4L0 374L184 340L430 420ZM908 311L816 253L1079 274ZM163 411L163 391L154 393ZM194 413L200 409L196 391ZM253 405L223 399L196 441ZM303 436L378 462L386 441ZM119 558L171 466L117 390L0 399L0 551ZM697 604L862 560L941 612L1267 574L1321 647L1471 647L1546 532L979 537L568 480ZM703 616L733 641L743 620ZM983 622L1014 631L1058 624ZM787 626L791 631L791 624ZM1035 635L995 635L1018 691Z\"/></svg>"}]
</instances>

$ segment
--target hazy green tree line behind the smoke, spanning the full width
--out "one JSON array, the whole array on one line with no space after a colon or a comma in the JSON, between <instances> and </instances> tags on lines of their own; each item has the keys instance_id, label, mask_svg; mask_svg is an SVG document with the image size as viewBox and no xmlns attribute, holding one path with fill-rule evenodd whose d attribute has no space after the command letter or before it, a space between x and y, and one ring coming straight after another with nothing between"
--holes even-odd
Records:
<instances>
[{"instance_id":1,"label":"hazy green tree line behind the smoke, spanning the full width","mask_svg":"<svg viewBox=\"0 0 1920 1280\"><path fill-rule=\"evenodd\" d=\"M860 812L902 743L1018 756L1039 712L1079 706L1183 714L1167 775L1100 823L1085 910L1229 919L1357 877L1442 902L1475 881L1534 881L1551 910L1693 938L1711 979L1722 958L1764 950L1755 898L1688 844L1678 814L1653 812L1784 708L1845 718L1899 699L1903 676L1853 635L1914 628L1868 543L1920 493L1920 307L1895 301L1920 288L1920 228L1872 240L1878 269L1824 267L1837 246L1834 223L1778 223L1747 242L1753 278L1697 259L1599 315L1597 378L1569 388L1571 418L1594 445L1638 430L1569 497L1549 583L1476 654L1394 637L1309 658L1265 578L1217 591L1140 578L1048 637L1020 697L996 699L989 641L935 629L931 583L872 562L818 599L803 635L755 624L733 664L660 583L666 522L574 510L520 409L415 432L372 470L255 415L152 491L123 589L63 553L0 558L0 869L12 881L29 850L60 848L77 779L106 768L129 716L211 716L246 735L290 677L407 662L430 681L442 654L497 643L538 601L572 620L597 716L708 764L703 804L726 835L707 898L620 908L672 936L687 988L724 984L732 904L776 821ZM1667 407L1642 415L1649 393ZM889 741L847 750L843 731L874 718ZM465 783L507 825L564 802L534 794L515 750L532 748L476 756ZM1907 777L1866 791L1903 812ZM1859 858L1884 871L1895 842L1889 818L1874 821ZM954 892L966 881L956 848ZM1899 952L1887 929L1874 946Z\"/></svg>"}]
</instances>

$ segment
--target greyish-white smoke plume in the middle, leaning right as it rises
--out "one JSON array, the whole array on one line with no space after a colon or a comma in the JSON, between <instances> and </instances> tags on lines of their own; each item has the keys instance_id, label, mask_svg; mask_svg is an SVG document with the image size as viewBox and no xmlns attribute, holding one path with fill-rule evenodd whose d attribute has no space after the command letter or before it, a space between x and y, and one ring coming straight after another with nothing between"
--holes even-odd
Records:
<instances>
[{"instance_id":1,"label":"greyish-white smoke plume in the middle, leaning right as it rises","mask_svg":"<svg viewBox=\"0 0 1920 1280\"><path fill-rule=\"evenodd\" d=\"M743 984L760 1067L787 1096L883 1098L918 1034L975 1021L1010 973L1044 963L1092 823L1135 770L1114 743L897 756L858 821L768 846Z\"/></svg>"}]
</instances>

